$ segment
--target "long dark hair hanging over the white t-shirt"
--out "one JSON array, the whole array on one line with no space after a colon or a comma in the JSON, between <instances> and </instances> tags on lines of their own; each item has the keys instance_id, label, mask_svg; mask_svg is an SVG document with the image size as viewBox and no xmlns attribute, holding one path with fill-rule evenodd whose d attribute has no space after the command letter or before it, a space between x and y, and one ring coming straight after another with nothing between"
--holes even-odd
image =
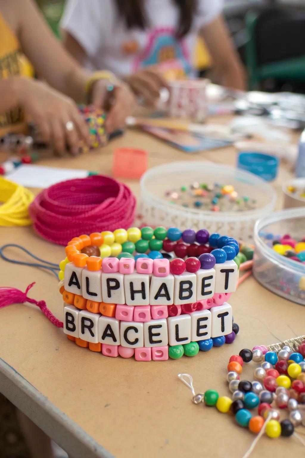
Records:
<instances>
[{"instance_id":1,"label":"long dark hair hanging over the white t-shirt","mask_svg":"<svg viewBox=\"0 0 305 458\"><path fill-rule=\"evenodd\" d=\"M193 23L193 17L197 13L198 0L172 0L179 10L179 23L176 36L182 38L186 35ZM123 18L128 29L148 27L148 20L145 16L143 0L116 0L118 13Z\"/></svg>"}]
</instances>

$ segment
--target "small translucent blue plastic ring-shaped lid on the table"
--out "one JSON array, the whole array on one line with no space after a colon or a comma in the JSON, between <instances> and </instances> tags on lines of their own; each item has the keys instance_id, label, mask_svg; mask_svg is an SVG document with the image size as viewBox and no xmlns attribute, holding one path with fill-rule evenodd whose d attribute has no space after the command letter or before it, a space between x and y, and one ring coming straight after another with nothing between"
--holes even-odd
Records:
<instances>
[{"instance_id":1,"label":"small translucent blue plastic ring-shaped lid on the table","mask_svg":"<svg viewBox=\"0 0 305 458\"><path fill-rule=\"evenodd\" d=\"M237 167L258 175L263 180L272 181L278 174L278 158L270 154L244 151L238 155Z\"/></svg>"}]
</instances>

